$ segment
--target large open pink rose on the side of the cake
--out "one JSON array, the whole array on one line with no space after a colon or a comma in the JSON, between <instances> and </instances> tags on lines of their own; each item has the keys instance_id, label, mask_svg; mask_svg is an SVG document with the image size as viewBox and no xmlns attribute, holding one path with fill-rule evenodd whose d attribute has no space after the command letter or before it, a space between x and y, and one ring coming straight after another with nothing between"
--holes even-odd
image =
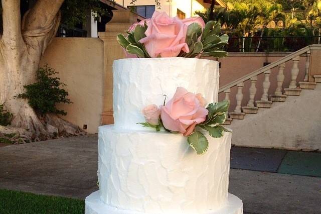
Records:
<instances>
[{"instance_id":1,"label":"large open pink rose on the side of the cake","mask_svg":"<svg viewBox=\"0 0 321 214\"><path fill-rule=\"evenodd\" d=\"M161 108L161 117L166 129L190 135L197 124L209 114L194 93L178 87L174 97Z\"/></svg>"}]
</instances>

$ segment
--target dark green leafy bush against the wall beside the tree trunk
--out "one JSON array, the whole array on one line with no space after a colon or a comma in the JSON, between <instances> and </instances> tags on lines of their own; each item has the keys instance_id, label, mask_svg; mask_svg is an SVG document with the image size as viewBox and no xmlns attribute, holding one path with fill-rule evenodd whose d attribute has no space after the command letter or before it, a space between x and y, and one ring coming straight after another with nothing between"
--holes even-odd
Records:
<instances>
[{"instance_id":1,"label":"dark green leafy bush against the wall beside the tree trunk","mask_svg":"<svg viewBox=\"0 0 321 214\"><path fill-rule=\"evenodd\" d=\"M28 99L30 106L41 116L47 113L67 115L63 110L56 108L57 103L72 102L67 98L68 92L60 88L66 86L66 84L60 82L60 78L52 77L55 74L58 74L58 72L48 65L45 68L39 68L36 74L38 81L25 85L26 92L18 94L16 97Z\"/></svg>"}]
</instances>

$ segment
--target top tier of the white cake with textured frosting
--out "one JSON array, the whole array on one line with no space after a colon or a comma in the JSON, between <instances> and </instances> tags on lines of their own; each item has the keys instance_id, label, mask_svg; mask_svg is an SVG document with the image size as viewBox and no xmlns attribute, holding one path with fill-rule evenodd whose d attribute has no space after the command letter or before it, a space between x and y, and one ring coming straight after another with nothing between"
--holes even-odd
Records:
<instances>
[{"instance_id":1,"label":"top tier of the white cake with textured frosting","mask_svg":"<svg viewBox=\"0 0 321 214\"><path fill-rule=\"evenodd\" d=\"M166 94L172 98L178 86L201 93L217 102L219 64L195 58L120 59L113 65L113 111L115 128L148 130L141 110L148 104L162 105Z\"/></svg>"}]
</instances>

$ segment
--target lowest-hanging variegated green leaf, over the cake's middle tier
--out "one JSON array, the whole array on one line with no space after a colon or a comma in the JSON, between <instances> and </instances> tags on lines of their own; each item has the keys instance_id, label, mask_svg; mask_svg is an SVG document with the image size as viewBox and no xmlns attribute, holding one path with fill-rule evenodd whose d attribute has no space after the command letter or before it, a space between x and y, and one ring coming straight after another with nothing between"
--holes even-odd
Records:
<instances>
[{"instance_id":1,"label":"lowest-hanging variegated green leaf, over the cake's middle tier","mask_svg":"<svg viewBox=\"0 0 321 214\"><path fill-rule=\"evenodd\" d=\"M206 137L199 131L195 131L187 138L189 145L197 152L198 155L204 154L208 147L209 142Z\"/></svg>"}]
</instances>

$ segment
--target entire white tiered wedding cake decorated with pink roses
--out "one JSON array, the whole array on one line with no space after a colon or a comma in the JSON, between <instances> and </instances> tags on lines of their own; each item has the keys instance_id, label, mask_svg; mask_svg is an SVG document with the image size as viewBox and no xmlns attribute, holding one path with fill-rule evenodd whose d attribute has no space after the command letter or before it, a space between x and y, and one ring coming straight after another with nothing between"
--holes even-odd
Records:
<instances>
[{"instance_id":1,"label":"entire white tiered wedding cake decorated with pink roses","mask_svg":"<svg viewBox=\"0 0 321 214\"><path fill-rule=\"evenodd\" d=\"M243 213L242 201L228 193L232 134L221 126L226 106L217 103L218 62L186 57L198 42L203 48L194 54L206 52L206 37L201 35L192 36L192 44L186 36L186 44L163 51L147 44L149 26L179 22L159 13L153 18L129 29L128 44L122 46L138 57L156 58L114 61L115 124L99 128L99 190L86 198L85 213ZM186 26L183 32L188 35L191 24ZM135 40L134 32L142 27L145 37L130 43L130 36ZM200 27L204 34L205 24ZM180 29L174 29L178 35ZM209 32L213 29L215 23ZM222 39L211 41L213 45ZM151 104L155 107L146 108Z\"/></svg>"}]
</instances>

